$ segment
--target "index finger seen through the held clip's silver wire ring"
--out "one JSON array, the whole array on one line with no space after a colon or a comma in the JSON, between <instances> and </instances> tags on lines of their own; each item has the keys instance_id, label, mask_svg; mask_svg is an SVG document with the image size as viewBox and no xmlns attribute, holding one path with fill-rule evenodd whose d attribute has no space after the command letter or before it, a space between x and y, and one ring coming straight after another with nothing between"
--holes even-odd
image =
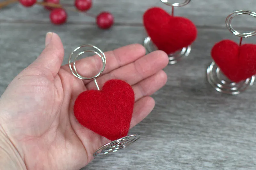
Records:
<instances>
[{"instance_id":1,"label":"index finger seen through the held clip's silver wire ring","mask_svg":"<svg viewBox=\"0 0 256 170\"><path fill-rule=\"evenodd\" d=\"M132 63L138 58L146 54L145 48L140 44L131 44L121 48L117 48L113 51L104 52L106 56L106 67L101 75L104 75L112 70L115 70L128 63ZM63 68L69 71L68 65ZM92 77L96 75L102 68L102 60L98 55L86 57L84 59L76 61L77 72L84 77ZM86 80L84 83L88 83L92 80Z\"/></svg>"}]
</instances>

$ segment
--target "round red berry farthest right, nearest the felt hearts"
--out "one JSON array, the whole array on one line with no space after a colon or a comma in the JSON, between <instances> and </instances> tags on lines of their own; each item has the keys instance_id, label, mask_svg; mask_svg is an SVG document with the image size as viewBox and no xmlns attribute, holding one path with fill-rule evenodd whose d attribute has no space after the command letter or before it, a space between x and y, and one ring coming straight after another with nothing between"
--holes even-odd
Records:
<instances>
[{"instance_id":1,"label":"round red berry farthest right, nearest the felt hearts","mask_svg":"<svg viewBox=\"0 0 256 170\"><path fill-rule=\"evenodd\" d=\"M113 23L114 23L114 17L111 13L109 12L101 12L98 16L97 16L97 25L101 28L101 29L108 29L110 28Z\"/></svg>"}]
</instances>

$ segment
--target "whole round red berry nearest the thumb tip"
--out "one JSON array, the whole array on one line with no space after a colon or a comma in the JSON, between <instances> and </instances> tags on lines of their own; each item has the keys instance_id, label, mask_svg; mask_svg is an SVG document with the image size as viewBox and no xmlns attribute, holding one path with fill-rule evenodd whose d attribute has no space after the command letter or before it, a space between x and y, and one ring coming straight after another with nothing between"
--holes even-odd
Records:
<instances>
[{"instance_id":1,"label":"whole round red berry nearest the thumb tip","mask_svg":"<svg viewBox=\"0 0 256 170\"><path fill-rule=\"evenodd\" d=\"M50 19L53 24L60 25L66 22L67 13L62 8L55 8L50 13Z\"/></svg>"}]
</instances>

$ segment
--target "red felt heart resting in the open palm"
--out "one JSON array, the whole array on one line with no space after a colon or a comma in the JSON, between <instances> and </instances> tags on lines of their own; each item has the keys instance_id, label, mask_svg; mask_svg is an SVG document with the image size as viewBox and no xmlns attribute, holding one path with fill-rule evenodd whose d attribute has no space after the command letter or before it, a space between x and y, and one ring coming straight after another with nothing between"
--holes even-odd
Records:
<instances>
[{"instance_id":1,"label":"red felt heart resting in the open palm","mask_svg":"<svg viewBox=\"0 0 256 170\"><path fill-rule=\"evenodd\" d=\"M74 114L88 129L116 140L128 134L134 100L129 84L122 80L108 80L101 91L82 92L75 101Z\"/></svg>"}]
</instances>

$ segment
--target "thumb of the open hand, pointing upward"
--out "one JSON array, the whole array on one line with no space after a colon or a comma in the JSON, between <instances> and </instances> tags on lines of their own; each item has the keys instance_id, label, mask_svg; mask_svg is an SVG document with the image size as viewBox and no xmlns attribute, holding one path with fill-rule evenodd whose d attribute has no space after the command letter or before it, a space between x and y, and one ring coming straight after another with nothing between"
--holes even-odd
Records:
<instances>
[{"instance_id":1,"label":"thumb of the open hand, pointing upward","mask_svg":"<svg viewBox=\"0 0 256 170\"><path fill-rule=\"evenodd\" d=\"M56 33L47 33L45 48L38 58L31 64L42 70L47 70L56 76L60 70L64 57L64 48L60 37Z\"/></svg>"}]
</instances>

